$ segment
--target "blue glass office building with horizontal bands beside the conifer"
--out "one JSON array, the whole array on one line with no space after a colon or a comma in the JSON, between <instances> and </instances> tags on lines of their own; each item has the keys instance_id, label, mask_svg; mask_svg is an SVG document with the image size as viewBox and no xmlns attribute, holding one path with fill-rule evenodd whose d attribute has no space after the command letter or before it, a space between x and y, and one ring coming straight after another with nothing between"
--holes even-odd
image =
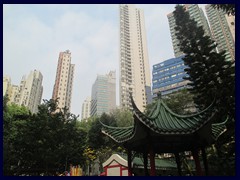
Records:
<instances>
[{"instance_id":1,"label":"blue glass office building with horizontal bands beside the conifer","mask_svg":"<svg viewBox=\"0 0 240 180\"><path fill-rule=\"evenodd\" d=\"M188 75L184 71L186 66L182 58L183 56L180 56L153 65L153 98L157 96L159 91L162 95L167 95L187 86L188 81L184 80L183 77Z\"/></svg>"}]
</instances>

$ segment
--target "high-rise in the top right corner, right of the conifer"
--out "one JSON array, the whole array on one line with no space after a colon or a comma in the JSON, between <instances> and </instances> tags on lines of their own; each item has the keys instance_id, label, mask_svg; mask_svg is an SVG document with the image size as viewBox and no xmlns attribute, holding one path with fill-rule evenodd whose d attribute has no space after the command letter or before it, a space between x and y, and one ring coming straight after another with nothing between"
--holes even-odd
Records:
<instances>
[{"instance_id":1,"label":"high-rise in the top right corner, right of the conifer","mask_svg":"<svg viewBox=\"0 0 240 180\"><path fill-rule=\"evenodd\" d=\"M226 51L226 60L235 61L235 18L226 18L222 9L215 9L210 4L205 6L213 38L219 52ZM231 24L229 26L229 23ZM230 27L234 32L231 33Z\"/></svg>"}]
</instances>

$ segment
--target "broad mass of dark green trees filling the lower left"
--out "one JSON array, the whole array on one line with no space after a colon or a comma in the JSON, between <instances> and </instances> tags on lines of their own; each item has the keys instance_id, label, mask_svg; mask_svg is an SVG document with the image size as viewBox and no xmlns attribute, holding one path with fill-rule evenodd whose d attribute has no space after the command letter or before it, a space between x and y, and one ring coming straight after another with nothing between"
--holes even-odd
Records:
<instances>
[{"instance_id":1,"label":"broad mass of dark green trees filling the lower left","mask_svg":"<svg viewBox=\"0 0 240 180\"><path fill-rule=\"evenodd\" d=\"M84 165L87 133L77 117L45 100L37 114L9 105L4 116L4 175L52 175L70 164Z\"/></svg>"}]
</instances>

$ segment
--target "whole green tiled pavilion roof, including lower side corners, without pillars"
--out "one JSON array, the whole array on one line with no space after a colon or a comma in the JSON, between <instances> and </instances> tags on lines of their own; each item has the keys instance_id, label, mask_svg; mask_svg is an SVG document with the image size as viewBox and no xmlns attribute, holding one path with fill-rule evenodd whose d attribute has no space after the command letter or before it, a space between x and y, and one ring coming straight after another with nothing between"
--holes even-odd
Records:
<instances>
[{"instance_id":1,"label":"whole green tiled pavilion roof, including lower side corners, without pillars","mask_svg":"<svg viewBox=\"0 0 240 180\"><path fill-rule=\"evenodd\" d=\"M215 115L211 108L212 104L205 110L193 115L178 115L172 112L162 99L158 99L156 105L149 114L143 114L132 99L134 125L129 127L111 127L102 123L102 132L118 143L132 143L136 139L141 141L140 136L145 137L152 133L155 137L185 137L206 129L202 133L209 135L209 141L216 140L226 129L225 123L209 124ZM208 137L209 136L209 137ZM135 140L133 140L135 139ZM157 141L160 139L157 138ZM171 140L169 140L171 141ZM175 140L174 140L175 141ZM184 139L182 139L184 141ZM184 142L182 142L184 143Z\"/></svg>"}]
</instances>

